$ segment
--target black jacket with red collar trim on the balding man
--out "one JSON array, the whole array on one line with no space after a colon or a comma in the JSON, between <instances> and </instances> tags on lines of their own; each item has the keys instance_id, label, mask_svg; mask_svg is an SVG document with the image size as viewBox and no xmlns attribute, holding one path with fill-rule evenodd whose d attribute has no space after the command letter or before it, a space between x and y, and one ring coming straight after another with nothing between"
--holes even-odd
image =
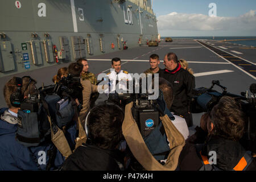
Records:
<instances>
[{"instance_id":1,"label":"black jacket with red collar trim on the balding man","mask_svg":"<svg viewBox=\"0 0 256 182\"><path fill-rule=\"evenodd\" d=\"M174 103L169 109L180 115L188 113L192 100L192 89L195 88L195 77L181 68L180 64L172 71L162 69L159 72L159 77L169 81L174 88Z\"/></svg>"}]
</instances>

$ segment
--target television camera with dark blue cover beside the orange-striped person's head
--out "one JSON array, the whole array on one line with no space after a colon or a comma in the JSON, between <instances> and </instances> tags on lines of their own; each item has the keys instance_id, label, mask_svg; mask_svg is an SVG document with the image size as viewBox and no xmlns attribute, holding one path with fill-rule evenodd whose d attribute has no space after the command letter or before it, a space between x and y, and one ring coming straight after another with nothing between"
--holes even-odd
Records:
<instances>
[{"instance_id":1,"label":"television camera with dark blue cover beside the orange-striped person's head","mask_svg":"<svg viewBox=\"0 0 256 182\"><path fill-rule=\"evenodd\" d=\"M213 90L214 85L220 86L222 93ZM225 86L220 84L220 81L212 81L210 88L197 88L193 90L194 97L192 98L191 112L192 113L209 113L213 106L218 103L222 96L230 96L236 98L240 103L242 111L247 116L245 123L245 134L241 139L241 144L246 150L256 152L256 97L255 84L251 84L250 91L253 97L248 96L248 92L241 92L241 96L228 93Z\"/></svg>"}]
</instances>

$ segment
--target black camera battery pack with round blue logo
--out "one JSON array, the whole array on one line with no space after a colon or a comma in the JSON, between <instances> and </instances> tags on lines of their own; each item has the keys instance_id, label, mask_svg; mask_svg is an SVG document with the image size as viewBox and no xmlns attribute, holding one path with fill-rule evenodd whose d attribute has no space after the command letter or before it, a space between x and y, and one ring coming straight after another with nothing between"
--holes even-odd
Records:
<instances>
[{"instance_id":1,"label":"black camera battery pack with round blue logo","mask_svg":"<svg viewBox=\"0 0 256 182\"><path fill-rule=\"evenodd\" d=\"M139 123L142 137L147 137L159 125L159 111L139 111Z\"/></svg>"}]
</instances>

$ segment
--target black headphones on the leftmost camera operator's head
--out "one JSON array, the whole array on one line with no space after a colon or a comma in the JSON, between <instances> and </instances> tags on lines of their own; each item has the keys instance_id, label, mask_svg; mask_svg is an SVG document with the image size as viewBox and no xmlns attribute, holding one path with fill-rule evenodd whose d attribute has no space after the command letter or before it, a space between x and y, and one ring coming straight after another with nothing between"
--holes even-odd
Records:
<instances>
[{"instance_id":1,"label":"black headphones on the leftmost camera operator's head","mask_svg":"<svg viewBox=\"0 0 256 182\"><path fill-rule=\"evenodd\" d=\"M27 90L27 88L31 84L31 82L34 81L30 76L23 76L22 78L15 77L15 83L16 83L16 86L17 86L17 91L14 92L13 94L11 94L11 96L10 96L11 105L14 106L14 107L20 107L20 103L24 99L24 95L22 94L23 78L29 78L30 79L28 81L27 87L24 90L24 92Z\"/></svg>"}]
</instances>

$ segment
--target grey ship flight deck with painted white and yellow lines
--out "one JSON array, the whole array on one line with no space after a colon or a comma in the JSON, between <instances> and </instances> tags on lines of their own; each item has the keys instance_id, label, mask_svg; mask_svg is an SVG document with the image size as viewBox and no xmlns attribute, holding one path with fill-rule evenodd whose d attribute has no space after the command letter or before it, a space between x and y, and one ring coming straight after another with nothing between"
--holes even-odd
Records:
<instances>
[{"instance_id":1,"label":"grey ship flight deck with painted white and yellow lines","mask_svg":"<svg viewBox=\"0 0 256 182\"><path fill-rule=\"evenodd\" d=\"M142 73L150 68L148 60L152 53L159 55L160 68L164 68L162 61L164 55L168 52L174 52L178 59L187 60L189 68L193 69L196 77L196 88L210 87L212 80L219 80L228 92L240 94L249 90L250 85L256 82L255 47L216 40L173 40L173 42L168 43L162 41L158 47L141 46L90 57L88 59L89 71L96 75L102 72L108 73L111 68L110 60L113 57L120 57L123 70L129 73ZM52 67L1 77L1 107L6 106L2 93L3 86L11 77L29 75L38 81L38 87L42 85L42 82L44 85L49 85L52 84L52 77L57 73L57 70L61 67L68 67L69 64L53 65ZM214 89L221 92L218 86L214 86ZM100 94L98 101L105 99L106 96ZM200 117L201 114L193 114L194 125L200 125ZM192 130L193 127L191 127Z\"/></svg>"}]
</instances>

